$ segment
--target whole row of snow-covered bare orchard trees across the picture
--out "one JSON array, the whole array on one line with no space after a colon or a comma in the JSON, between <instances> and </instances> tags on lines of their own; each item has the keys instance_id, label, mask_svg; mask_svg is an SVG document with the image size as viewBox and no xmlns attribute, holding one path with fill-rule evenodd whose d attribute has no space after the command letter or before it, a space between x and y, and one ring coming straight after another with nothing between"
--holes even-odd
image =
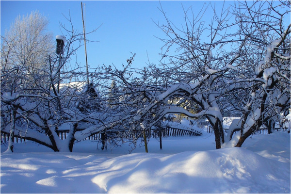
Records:
<instances>
[{"instance_id":1,"label":"whole row of snow-covered bare orchard trees across the picture","mask_svg":"<svg viewBox=\"0 0 291 194\"><path fill-rule=\"evenodd\" d=\"M161 64L133 68L132 54L123 69L103 65L88 73L73 62L83 38L73 25L64 27L64 54L57 55L46 18L37 12L17 18L1 36L1 132L10 135L9 149L15 136L54 151L72 151L96 133L116 144L130 136L134 143L168 113L207 117L219 149L242 146L262 125L272 132L285 119L290 1L238 1L219 11L210 4L196 14L189 8L182 25L160 11ZM226 113L241 117L227 133ZM61 130L68 132L65 140Z\"/></svg>"}]
</instances>

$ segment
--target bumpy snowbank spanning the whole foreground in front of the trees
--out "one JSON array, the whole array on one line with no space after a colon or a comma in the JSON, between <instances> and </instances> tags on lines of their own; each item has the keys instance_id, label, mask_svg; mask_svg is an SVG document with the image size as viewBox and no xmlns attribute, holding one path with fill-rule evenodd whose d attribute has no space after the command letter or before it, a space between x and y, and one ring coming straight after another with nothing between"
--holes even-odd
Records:
<instances>
[{"instance_id":1,"label":"bumpy snowbank spanning the whole foreground in front of the trees","mask_svg":"<svg viewBox=\"0 0 291 194\"><path fill-rule=\"evenodd\" d=\"M16 182L25 186L12 187ZM1 192L19 191L290 193L290 162L238 147L173 155L134 153L113 159L75 153L2 154Z\"/></svg>"}]
</instances>

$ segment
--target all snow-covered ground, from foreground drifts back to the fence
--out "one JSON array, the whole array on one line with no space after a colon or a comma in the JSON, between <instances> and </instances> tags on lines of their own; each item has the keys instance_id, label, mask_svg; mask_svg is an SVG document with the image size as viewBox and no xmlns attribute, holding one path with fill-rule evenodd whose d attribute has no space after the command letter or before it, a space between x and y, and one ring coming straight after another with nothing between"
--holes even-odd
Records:
<instances>
[{"instance_id":1,"label":"all snow-covered ground, from foreground drifts back to the fence","mask_svg":"<svg viewBox=\"0 0 291 194\"><path fill-rule=\"evenodd\" d=\"M32 142L1 145L1 193L290 193L290 134L253 135L216 150L214 135L151 138L145 153L91 140L72 153ZM100 147L100 146L99 146Z\"/></svg>"}]
</instances>

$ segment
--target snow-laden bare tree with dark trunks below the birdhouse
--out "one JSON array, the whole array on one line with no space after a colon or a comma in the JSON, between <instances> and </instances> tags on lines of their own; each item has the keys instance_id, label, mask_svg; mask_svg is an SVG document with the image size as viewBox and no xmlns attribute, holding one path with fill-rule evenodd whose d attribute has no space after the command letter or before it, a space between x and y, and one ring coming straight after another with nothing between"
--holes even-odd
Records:
<instances>
[{"instance_id":1,"label":"snow-laden bare tree with dark trunks below the birdhouse","mask_svg":"<svg viewBox=\"0 0 291 194\"><path fill-rule=\"evenodd\" d=\"M33 19L33 16L28 21L25 18L20 22L24 29L29 29L30 21L40 17L35 14ZM87 77L87 74L78 72L80 66L70 64L72 55L81 47L83 34L73 28L70 17L67 19L71 29L64 28L67 44L62 56L57 56L50 49L45 50L45 47L39 49L42 52L37 52L41 40L45 41L44 37L47 37L41 36L41 32L23 34L24 40L16 43L8 41L10 34L3 37L5 44L11 47L5 49L3 45L1 48L7 54L3 61L1 56L1 132L10 134L12 140L16 136L48 146L54 151L72 151L77 127L82 120L87 122L88 113L81 112L78 104L88 96L81 99L80 87L68 84L71 81L81 83ZM35 29L39 26L42 25L36 25ZM16 34L11 41L19 37L21 35ZM40 37L41 40L38 39ZM15 45L17 47L12 47ZM12 60L17 63L12 63ZM61 130L67 132L65 140L59 138Z\"/></svg>"}]
</instances>

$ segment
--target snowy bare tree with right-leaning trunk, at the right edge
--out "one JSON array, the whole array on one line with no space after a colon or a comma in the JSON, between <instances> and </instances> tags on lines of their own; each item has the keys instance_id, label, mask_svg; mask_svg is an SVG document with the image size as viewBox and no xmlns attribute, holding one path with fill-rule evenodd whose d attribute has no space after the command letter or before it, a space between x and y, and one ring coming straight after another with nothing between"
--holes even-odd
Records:
<instances>
[{"instance_id":1,"label":"snowy bare tree with right-leaning trunk, at the right edge","mask_svg":"<svg viewBox=\"0 0 291 194\"><path fill-rule=\"evenodd\" d=\"M246 79L252 81L244 84L243 96L236 93L242 119L227 139L239 130L235 143L242 146L263 124L284 119L290 111L290 1L239 2L234 14L246 39L241 63L251 67Z\"/></svg>"}]
</instances>

